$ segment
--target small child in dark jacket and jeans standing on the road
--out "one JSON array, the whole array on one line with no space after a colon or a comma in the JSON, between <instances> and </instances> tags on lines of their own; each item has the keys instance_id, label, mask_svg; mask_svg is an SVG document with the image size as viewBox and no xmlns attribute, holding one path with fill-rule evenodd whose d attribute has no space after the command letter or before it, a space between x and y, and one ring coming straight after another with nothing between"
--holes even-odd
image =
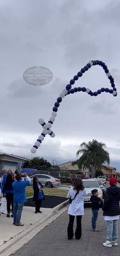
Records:
<instances>
[{"instance_id":1,"label":"small child in dark jacket and jeans standing on the road","mask_svg":"<svg viewBox=\"0 0 120 256\"><path fill-rule=\"evenodd\" d=\"M102 200L98 197L98 190L97 189L93 189L91 191L92 196L91 196L91 207L92 207L92 212L93 212L93 216L92 216L92 228L93 231L99 231L99 228L96 228L96 221L98 219L98 211L99 209L102 207L103 202Z\"/></svg>"}]
</instances>

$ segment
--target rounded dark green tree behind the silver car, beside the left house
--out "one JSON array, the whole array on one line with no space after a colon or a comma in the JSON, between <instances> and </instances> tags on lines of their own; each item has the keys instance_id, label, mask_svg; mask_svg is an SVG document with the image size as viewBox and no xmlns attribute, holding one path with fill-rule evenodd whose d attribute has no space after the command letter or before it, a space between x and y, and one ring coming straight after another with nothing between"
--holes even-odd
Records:
<instances>
[{"instance_id":1,"label":"rounded dark green tree behind the silver car, beside the left house","mask_svg":"<svg viewBox=\"0 0 120 256\"><path fill-rule=\"evenodd\" d=\"M33 168L37 170L48 170L51 164L49 161L43 159L43 157L34 157L31 160L26 160L23 164L23 168Z\"/></svg>"}]
</instances>

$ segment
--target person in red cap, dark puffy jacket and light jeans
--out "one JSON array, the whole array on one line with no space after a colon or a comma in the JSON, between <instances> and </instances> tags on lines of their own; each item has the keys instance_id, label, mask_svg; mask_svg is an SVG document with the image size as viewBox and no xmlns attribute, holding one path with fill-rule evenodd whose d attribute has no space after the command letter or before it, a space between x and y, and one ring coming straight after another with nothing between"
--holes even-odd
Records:
<instances>
[{"instance_id":1,"label":"person in red cap, dark puffy jacket and light jeans","mask_svg":"<svg viewBox=\"0 0 120 256\"><path fill-rule=\"evenodd\" d=\"M107 239L103 246L106 247L117 246L117 220L120 215L120 188L116 186L117 179L111 177L109 183L110 187L107 188L103 204L103 216L107 221Z\"/></svg>"}]
</instances>

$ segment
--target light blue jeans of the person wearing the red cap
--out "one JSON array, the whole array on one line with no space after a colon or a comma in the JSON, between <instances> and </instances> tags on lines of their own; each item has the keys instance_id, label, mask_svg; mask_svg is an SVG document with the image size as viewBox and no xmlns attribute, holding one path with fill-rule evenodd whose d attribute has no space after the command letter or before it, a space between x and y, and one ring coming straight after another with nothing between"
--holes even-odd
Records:
<instances>
[{"instance_id":1,"label":"light blue jeans of the person wearing the red cap","mask_svg":"<svg viewBox=\"0 0 120 256\"><path fill-rule=\"evenodd\" d=\"M107 240L117 242L117 220L107 221Z\"/></svg>"}]
</instances>

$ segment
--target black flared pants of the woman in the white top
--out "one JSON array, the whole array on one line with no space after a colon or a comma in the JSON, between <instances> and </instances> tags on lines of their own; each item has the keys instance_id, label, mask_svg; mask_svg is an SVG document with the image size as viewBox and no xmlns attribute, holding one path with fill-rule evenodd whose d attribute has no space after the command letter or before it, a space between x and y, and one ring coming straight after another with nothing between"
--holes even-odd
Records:
<instances>
[{"instance_id":1,"label":"black flared pants of the woman in the white top","mask_svg":"<svg viewBox=\"0 0 120 256\"><path fill-rule=\"evenodd\" d=\"M68 224L68 239L72 239L74 234L73 234L73 223L74 223L74 219L75 216L73 215L69 215L70 216L70 221ZM75 238L76 239L80 239L80 237L82 236L82 224L81 224L81 220L82 220L82 216L78 215L77 216L77 228L75 230Z\"/></svg>"}]
</instances>

